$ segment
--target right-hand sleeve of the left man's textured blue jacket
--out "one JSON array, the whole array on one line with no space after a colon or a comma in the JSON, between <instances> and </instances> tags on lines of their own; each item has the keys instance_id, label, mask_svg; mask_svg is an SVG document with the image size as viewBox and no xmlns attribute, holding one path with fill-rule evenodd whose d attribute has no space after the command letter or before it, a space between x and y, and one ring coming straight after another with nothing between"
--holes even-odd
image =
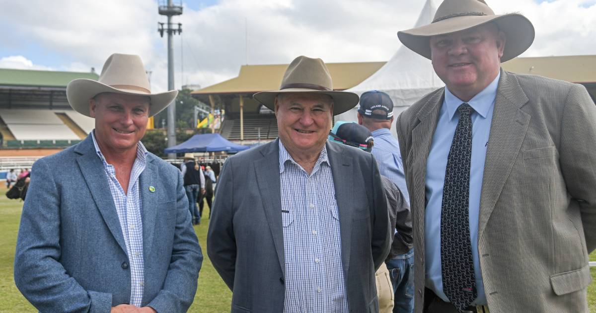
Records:
<instances>
[{"instance_id":1,"label":"right-hand sleeve of the left man's textured blue jacket","mask_svg":"<svg viewBox=\"0 0 596 313\"><path fill-rule=\"evenodd\" d=\"M198 272L203 253L191 223L188 199L178 172L176 186L176 229L172 244L172 258L162 290L148 304L157 312L186 312L197 292Z\"/></svg>"}]
</instances>

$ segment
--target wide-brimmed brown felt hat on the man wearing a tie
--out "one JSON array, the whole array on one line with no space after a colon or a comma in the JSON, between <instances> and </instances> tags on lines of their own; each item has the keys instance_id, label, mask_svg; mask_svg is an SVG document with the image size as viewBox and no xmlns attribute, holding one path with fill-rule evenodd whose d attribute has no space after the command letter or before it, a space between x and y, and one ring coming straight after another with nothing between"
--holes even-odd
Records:
<instances>
[{"instance_id":1,"label":"wide-brimmed brown felt hat on the man wearing a tie","mask_svg":"<svg viewBox=\"0 0 596 313\"><path fill-rule=\"evenodd\" d=\"M496 15L483 0L445 0L432 23L398 32L403 45L430 59L431 36L460 32L486 23L495 23L505 33L507 43L501 62L522 54L534 41L534 26L519 13Z\"/></svg>"}]
</instances>

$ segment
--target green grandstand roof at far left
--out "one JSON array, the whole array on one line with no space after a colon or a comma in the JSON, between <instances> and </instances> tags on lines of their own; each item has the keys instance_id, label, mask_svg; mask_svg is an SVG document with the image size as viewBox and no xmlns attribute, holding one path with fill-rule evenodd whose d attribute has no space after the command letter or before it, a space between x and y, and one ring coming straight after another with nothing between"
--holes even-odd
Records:
<instances>
[{"instance_id":1,"label":"green grandstand roof at far left","mask_svg":"<svg viewBox=\"0 0 596 313\"><path fill-rule=\"evenodd\" d=\"M63 87L77 78L97 80L97 73L0 69L0 86Z\"/></svg>"}]
</instances>

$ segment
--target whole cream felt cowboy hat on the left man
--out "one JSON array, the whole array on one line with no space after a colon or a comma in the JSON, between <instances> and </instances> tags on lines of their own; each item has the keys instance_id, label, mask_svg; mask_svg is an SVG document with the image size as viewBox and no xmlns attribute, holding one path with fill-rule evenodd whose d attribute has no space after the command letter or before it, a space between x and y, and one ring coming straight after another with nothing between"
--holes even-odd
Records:
<instances>
[{"instance_id":1,"label":"whole cream felt cowboy hat on the left man","mask_svg":"<svg viewBox=\"0 0 596 313\"><path fill-rule=\"evenodd\" d=\"M141 57L119 53L110 55L105 61L99 80L75 79L66 86L70 106L86 116L89 116L89 99L102 92L150 97L149 116L159 113L178 95L177 90L152 94Z\"/></svg>"}]
</instances>

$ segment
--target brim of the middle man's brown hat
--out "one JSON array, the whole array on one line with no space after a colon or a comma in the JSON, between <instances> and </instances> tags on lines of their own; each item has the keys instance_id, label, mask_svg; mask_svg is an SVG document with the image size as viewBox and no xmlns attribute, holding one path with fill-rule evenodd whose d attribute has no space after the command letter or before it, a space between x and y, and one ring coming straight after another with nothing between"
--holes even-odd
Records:
<instances>
[{"instance_id":1,"label":"brim of the middle man's brown hat","mask_svg":"<svg viewBox=\"0 0 596 313\"><path fill-rule=\"evenodd\" d=\"M349 91L320 91L308 88L287 88L282 90L262 91L253 95L254 100L259 101L263 106L275 111L275 97L278 94L287 94L291 92L309 92L312 94L325 94L333 98L333 115L342 114L352 109L358 104L360 98L358 94Z\"/></svg>"}]
</instances>

